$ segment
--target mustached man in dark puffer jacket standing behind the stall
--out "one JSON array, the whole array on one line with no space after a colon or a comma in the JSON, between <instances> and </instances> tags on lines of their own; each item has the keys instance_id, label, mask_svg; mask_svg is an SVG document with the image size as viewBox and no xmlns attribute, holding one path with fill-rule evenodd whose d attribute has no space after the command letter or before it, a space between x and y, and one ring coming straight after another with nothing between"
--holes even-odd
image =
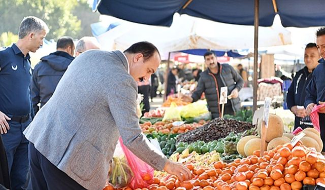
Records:
<instances>
[{"instance_id":1,"label":"mustached man in dark puffer jacket standing behind the stall","mask_svg":"<svg viewBox=\"0 0 325 190\"><path fill-rule=\"evenodd\" d=\"M206 52L204 60L208 68L200 74L197 90L193 92L191 97L183 96L182 100L195 102L201 98L204 92L212 119L218 118L221 113L220 89L226 86L228 87L228 95L232 99L224 105L224 114L234 115L240 109L238 91L243 87L244 80L231 65L218 63L214 52Z\"/></svg>"}]
</instances>

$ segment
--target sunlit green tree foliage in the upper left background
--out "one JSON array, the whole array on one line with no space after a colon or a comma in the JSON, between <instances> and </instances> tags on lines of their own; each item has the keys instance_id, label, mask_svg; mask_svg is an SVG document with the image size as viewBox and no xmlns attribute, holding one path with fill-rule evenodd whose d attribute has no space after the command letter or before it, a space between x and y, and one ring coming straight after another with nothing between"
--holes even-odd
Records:
<instances>
[{"instance_id":1,"label":"sunlit green tree foliage in the upper left background","mask_svg":"<svg viewBox=\"0 0 325 190\"><path fill-rule=\"evenodd\" d=\"M91 21L88 17L82 16L83 13L80 11L90 14ZM79 18L74 13L78 13ZM50 28L47 39L56 41L63 35L77 39L85 34L91 34L83 31L86 26L82 26L81 23L85 23L90 28L90 22L99 20L98 14L96 17L94 15L96 14L91 12L86 0L0 0L2 20L0 33L10 31L18 34L21 20L26 16L36 16L44 20Z\"/></svg>"}]
</instances>

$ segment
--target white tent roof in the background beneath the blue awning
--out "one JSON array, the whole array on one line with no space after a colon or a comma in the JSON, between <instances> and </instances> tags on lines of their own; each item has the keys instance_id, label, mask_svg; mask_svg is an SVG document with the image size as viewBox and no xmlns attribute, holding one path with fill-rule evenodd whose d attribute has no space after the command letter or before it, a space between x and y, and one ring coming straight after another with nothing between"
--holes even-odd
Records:
<instances>
[{"instance_id":1,"label":"white tent roof in the background beneath the blue awning","mask_svg":"<svg viewBox=\"0 0 325 190\"><path fill-rule=\"evenodd\" d=\"M259 47L291 44L282 26L259 27ZM161 54L187 49L233 50L253 48L254 27L224 24L187 15L174 16L171 27L125 22L98 36L102 49L125 50L140 41L153 43Z\"/></svg>"}]
</instances>

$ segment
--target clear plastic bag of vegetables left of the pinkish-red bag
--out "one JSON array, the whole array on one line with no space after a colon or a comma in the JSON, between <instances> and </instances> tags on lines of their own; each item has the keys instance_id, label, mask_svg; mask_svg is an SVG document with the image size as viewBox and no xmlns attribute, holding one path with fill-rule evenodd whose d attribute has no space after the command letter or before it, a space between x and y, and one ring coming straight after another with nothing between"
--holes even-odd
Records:
<instances>
[{"instance_id":1,"label":"clear plastic bag of vegetables left of the pinkish-red bag","mask_svg":"<svg viewBox=\"0 0 325 190\"><path fill-rule=\"evenodd\" d=\"M108 183L114 188L123 188L131 183L133 176L131 167L129 167L121 146L118 143L108 174Z\"/></svg>"}]
</instances>

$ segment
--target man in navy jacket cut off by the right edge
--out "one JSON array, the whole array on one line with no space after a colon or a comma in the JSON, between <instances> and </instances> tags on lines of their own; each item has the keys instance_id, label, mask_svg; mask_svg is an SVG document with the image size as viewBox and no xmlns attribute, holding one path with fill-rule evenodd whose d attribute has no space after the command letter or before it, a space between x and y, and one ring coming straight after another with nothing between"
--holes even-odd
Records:
<instances>
[{"instance_id":1,"label":"man in navy jacket cut off by the right edge","mask_svg":"<svg viewBox=\"0 0 325 190\"><path fill-rule=\"evenodd\" d=\"M307 115L310 115L315 105L325 103L325 27L322 27L316 32L316 44L321 59L318 61L319 65L314 69L310 83L306 88L306 100L305 107ZM325 108L318 110L319 113L319 126L320 126L320 137L325 143ZM322 151L324 151L323 148Z\"/></svg>"}]
</instances>

